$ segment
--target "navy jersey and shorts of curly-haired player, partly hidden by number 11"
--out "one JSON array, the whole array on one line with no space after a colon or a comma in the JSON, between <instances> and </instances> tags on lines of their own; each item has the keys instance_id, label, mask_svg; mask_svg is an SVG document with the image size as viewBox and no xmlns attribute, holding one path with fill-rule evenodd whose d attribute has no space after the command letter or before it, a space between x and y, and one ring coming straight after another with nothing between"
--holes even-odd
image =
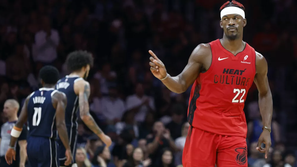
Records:
<instances>
[{"instance_id":1,"label":"navy jersey and shorts of curly-haired player, partly hidden by number 11","mask_svg":"<svg viewBox=\"0 0 297 167\"><path fill-rule=\"evenodd\" d=\"M75 148L76 148L76 141L77 141L77 112L79 110L78 107L78 96L74 92L74 83L76 81L83 80L83 78L80 78L78 75L68 76L66 75L64 78L60 79L56 85L56 89L60 92L63 92L66 94L67 97L67 107L65 110L65 123L68 131L69 136L69 144L71 147L71 151L73 154L73 158L75 158ZM65 148L62 142L58 139L59 144L59 150L61 152L61 155L59 155L60 163L63 164L63 160L66 160L65 157ZM72 162L75 162L73 159Z\"/></svg>"}]
</instances>

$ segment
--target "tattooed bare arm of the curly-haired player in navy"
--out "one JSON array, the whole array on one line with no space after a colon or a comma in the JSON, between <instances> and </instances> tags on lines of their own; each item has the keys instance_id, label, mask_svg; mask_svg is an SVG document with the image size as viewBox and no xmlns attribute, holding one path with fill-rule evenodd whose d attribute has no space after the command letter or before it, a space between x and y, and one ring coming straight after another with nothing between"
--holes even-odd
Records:
<instances>
[{"instance_id":1,"label":"tattooed bare arm of the curly-haired player in navy","mask_svg":"<svg viewBox=\"0 0 297 167\"><path fill-rule=\"evenodd\" d=\"M99 138L107 145L110 146L111 139L106 136L99 128L89 111L89 96L90 84L85 80L79 80L74 83L74 91L78 94L78 104L80 111L80 118Z\"/></svg>"}]
</instances>

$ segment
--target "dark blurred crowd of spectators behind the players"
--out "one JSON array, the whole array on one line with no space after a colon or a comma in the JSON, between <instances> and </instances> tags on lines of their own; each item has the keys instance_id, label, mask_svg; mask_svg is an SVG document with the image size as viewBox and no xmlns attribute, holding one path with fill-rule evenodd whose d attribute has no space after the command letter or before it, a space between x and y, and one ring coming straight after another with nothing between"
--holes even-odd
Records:
<instances>
[{"instance_id":1,"label":"dark blurred crowd of spectators behind the players","mask_svg":"<svg viewBox=\"0 0 297 167\"><path fill-rule=\"evenodd\" d=\"M51 64L67 75L69 52L87 50L95 63L90 110L113 139L105 148L79 122L76 160L86 167L181 165L190 89L170 92L151 74L148 50L171 76L200 43L222 38L219 8L226 0L0 0L0 125L7 99L39 88L38 71ZM255 150L262 132L258 92L251 87L244 112L251 167L296 167L296 1L238 0L246 8L244 41L263 54L273 95L271 155ZM50 39L50 42L46 42ZM163 132L156 143L154 136ZM289 166L288 166L289 165Z\"/></svg>"}]
</instances>

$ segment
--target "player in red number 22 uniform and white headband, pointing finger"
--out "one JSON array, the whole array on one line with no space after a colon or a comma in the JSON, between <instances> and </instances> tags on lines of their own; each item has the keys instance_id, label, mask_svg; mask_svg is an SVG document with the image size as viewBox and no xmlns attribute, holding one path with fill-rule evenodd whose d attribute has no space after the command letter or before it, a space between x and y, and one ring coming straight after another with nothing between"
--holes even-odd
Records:
<instances>
[{"instance_id":1,"label":"player in red number 22 uniform and white headband, pointing finger","mask_svg":"<svg viewBox=\"0 0 297 167\"><path fill-rule=\"evenodd\" d=\"M247 166L247 123L244 101L254 81L259 90L263 132L257 150L271 145L272 97L266 59L242 41L247 25L244 6L228 1L221 8L222 39L198 45L184 70L171 77L164 64L151 54L151 72L172 92L192 85L188 121L190 128L183 152L184 167ZM261 148L261 144L266 144Z\"/></svg>"}]
</instances>

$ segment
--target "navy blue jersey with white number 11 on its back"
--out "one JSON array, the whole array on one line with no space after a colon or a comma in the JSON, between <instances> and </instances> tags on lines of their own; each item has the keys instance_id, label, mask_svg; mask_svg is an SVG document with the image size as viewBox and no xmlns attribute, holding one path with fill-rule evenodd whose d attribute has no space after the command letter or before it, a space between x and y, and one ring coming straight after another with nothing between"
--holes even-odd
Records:
<instances>
[{"instance_id":1,"label":"navy blue jersey with white number 11 on its back","mask_svg":"<svg viewBox=\"0 0 297 167\"><path fill-rule=\"evenodd\" d=\"M28 102L29 136L57 137L56 109L52 104L54 88L40 88L30 94Z\"/></svg>"}]
</instances>

